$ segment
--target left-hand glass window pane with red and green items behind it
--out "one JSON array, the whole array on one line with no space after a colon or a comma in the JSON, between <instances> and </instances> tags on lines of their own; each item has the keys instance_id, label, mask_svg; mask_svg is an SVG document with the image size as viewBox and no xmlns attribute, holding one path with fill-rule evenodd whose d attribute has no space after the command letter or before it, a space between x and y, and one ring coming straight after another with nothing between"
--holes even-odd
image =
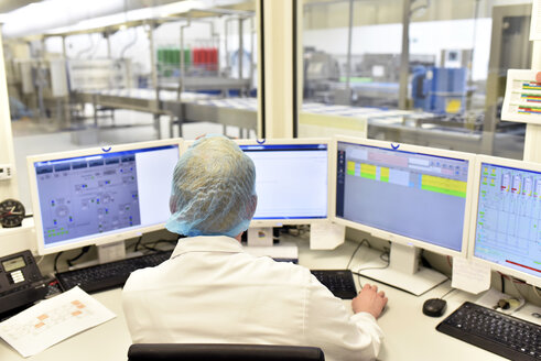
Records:
<instances>
[{"instance_id":1,"label":"left-hand glass window pane with red and green items behind it","mask_svg":"<svg viewBox=\"0 0 541 361\"><path fill-rule=\"evenodd\" d=\"M117 10L71 1L83 21L67 8L45 17L57 3L21 6L2 28L15 168L28 210L28 155L205 133L256 138L255 0L156 0L144 9L127 1Z\"/></svg>"}]
</instances>

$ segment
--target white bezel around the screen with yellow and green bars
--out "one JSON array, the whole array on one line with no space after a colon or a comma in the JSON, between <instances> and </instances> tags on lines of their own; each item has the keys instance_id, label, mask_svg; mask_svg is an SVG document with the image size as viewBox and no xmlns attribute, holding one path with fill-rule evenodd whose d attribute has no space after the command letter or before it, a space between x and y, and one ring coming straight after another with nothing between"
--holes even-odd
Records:
<instances>
[{"instance_id":1,"label":"white bezel around the screen with yellow and green bars","mask_svg":"<svg viewBox=\"0 0 541 361\"><path fill-rule=\"evenodd\" d=\"M336 173L337 173L337 152L338 152L338 142L346 142L346 143L353 143L353 144L359 144L359 145L368 145L368 146L376 146L376 147L382 147L382 149L388 149L390 151L392 150L398 150L398 151L404 151L404 152L412 152L412 153L422 153L422 154L428 154L428 155L436 155L436 156L445 156L445 157L451 157L451 158L457 158L457 160L464 160L468 161L468 177L467 177L467 190L466 190L466 204L465 204L465 209L464 209L464 228L462 232L462 245L461 245L461 251L455 251L452 249L447 249L441 245L435 245L431 244L426 241L423 240L418 240L413 239L410 237L405 237L402 234L393 233L387 230L382 230L376 227L358 223L355 221L346 220L344 218L339 218L336 216ZM444 255L450 255L450 256L467 256L467 251L468 251L468 238L469 238L469 226L470 226L470 208L472 208L472 200L473 198L473 180L474 180L474 166L475 166L475 158L476 155L472 153L465 153L465 152L457 152L457 151L450 151L450 150L442 150L442 149L434 149L434 147L428 147L428 146L420 146L420 145L411 145L411 144L403 144L403 143L392 143L388 141L379 141L379 140L371 140L371 139L363 139L363 138L355 138L355 136L347 136L347 135L336 135L333 138L333 147L335 149L335 152L331 156L332 158L332 167L329 174L333 175L333 179L331 183L331 220L335 223L338 225L344 225L354 229L358 229L360 231L365 231L370 233L374 237L381 238L391 242L397 242L405 245L412 245L416 248L421 248L428 251L432 251L435 253L444 254Z\"/></svg>"}]
</instances>

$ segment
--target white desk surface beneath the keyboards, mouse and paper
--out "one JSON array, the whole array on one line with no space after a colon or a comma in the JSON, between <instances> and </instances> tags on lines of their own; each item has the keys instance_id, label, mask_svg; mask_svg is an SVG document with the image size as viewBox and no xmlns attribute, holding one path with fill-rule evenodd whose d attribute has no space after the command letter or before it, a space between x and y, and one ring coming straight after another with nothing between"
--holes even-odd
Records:
<instances>
[{"instance_id":1,"label":"white desk surface beneath the keyboards, mouse and paper","mask_svg":"<svg viewBox=\"0 0 541 361\"><path fill-rule=\"evenodd\" d=\"M356 245L346 242L334 251L311 251L307 241L300 241L299 263L310 269L344 269ZM356 253L351 270L374 259L375 255L379 256L379 252L363 248ZM360 282L378 284L364 277L360 277ZM359 287L358 283L357 287ZM379 360L505 360L435 330L435 326L445 316L463 302L474 300L474 296L458 291L451 293L445 297L447 310L441 318L431 318L421 313L425 299L441 297L451 289L448 281L420 297L383 284L378 284L378 287L389 297L389 304L379 319L386 333ZM131 339L126 326L120 295L120 288L93 295L117 315L115 319L64 340L29 360L58 361L67 358L77 361L126 360ZM350 302L344 300L344 303L349 309ZM0 360L23 360L23 358L0 340Z\"/></svg>"}]
</instances>

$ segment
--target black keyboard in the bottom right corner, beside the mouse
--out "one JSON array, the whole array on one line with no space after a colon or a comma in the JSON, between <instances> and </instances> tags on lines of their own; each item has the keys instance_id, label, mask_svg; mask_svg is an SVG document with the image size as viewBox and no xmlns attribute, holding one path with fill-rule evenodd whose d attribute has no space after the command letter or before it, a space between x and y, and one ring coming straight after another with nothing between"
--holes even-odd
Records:
<instances>
[{"instance_id":1,"label":"black keyboard in the bottom right corner, beside the mouse","mask_svg":"<svg viewBox=\"0 0 541 361\"><path fill-rule=\"evenodd\" d=\"M436 330L511 360L541 360L540 325L469 302L437 325Z\"/></svg>"}]
</instances>

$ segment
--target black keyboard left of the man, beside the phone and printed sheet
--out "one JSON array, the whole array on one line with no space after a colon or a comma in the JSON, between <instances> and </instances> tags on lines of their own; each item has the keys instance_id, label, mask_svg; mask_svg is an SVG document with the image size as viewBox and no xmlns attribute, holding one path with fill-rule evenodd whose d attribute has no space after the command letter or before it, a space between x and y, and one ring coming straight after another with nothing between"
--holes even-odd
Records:
<instances>
[{"instance_id":1,"label":"black keyboard left of the man, beside the phone and printed sheet","mask_svg":"<svg viewBox=\"0 0 541 361\"><path fill-rule=\"evenodd\" d=\"M169 260L171 253L172 251L156 252L86 269L59 272L56 273L56 280L64 291L75 286L79 286L88 293L117 288L123 286L131 272L159 265Z\"/></svg>"}]
</instances>

